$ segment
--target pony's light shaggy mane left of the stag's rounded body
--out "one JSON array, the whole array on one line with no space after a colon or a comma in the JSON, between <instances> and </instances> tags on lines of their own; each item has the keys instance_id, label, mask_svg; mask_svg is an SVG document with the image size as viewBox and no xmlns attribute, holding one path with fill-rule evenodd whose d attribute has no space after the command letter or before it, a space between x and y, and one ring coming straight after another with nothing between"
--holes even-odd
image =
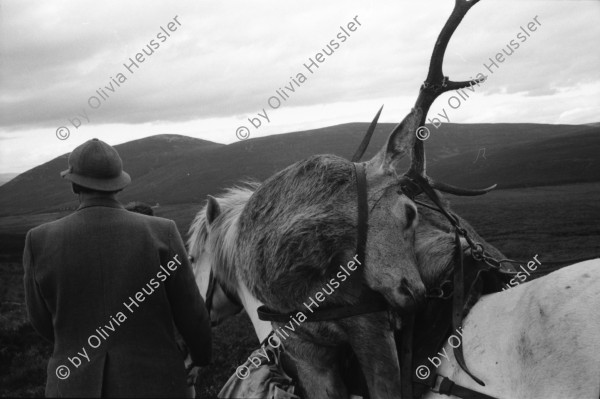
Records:
<instances>
[{"instance_id":1,"label":"pony's light shaggy mane left of the stag's rounded body","mask_svg":"<svg viewBox=\"0 0 600 399\"><path fill-rule=\"evenodd\" d=\"M207 244L213 245L211 252L214 259L211 259L211 265L219 266L213 270L215 276L233 292L237 291L235 270L231 262L231 253L235 249L235 225L248 199L259 186L260 183L256 181L244 181L237 186L227 188L223 194L215 197L221 208L221 214L213 222L215 228L211 229L213 234L210 240L206 220L208 203L198 211L188 231L189 255L197 260Z\"/></svg>"}]
</instances>

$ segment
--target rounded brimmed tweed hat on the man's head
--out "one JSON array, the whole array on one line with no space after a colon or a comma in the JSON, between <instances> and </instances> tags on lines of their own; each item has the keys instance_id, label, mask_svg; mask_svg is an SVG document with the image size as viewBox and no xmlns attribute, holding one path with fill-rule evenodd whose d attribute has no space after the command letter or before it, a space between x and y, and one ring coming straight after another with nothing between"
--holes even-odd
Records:
<instances>
[{"instance_id":1,"label":"rounded brimmed tweed hat on the man's head","mask_svg":"<svg viewBox=\"0 0 600 399\"><path fill-rule=\"evenodd\" d=\"M98 191L118 191L131 183L131 177L123 171L123 161L117 150L98 139L75 148L69 155L69 169L60 175Z\"/></svg>"}]
</instances>

